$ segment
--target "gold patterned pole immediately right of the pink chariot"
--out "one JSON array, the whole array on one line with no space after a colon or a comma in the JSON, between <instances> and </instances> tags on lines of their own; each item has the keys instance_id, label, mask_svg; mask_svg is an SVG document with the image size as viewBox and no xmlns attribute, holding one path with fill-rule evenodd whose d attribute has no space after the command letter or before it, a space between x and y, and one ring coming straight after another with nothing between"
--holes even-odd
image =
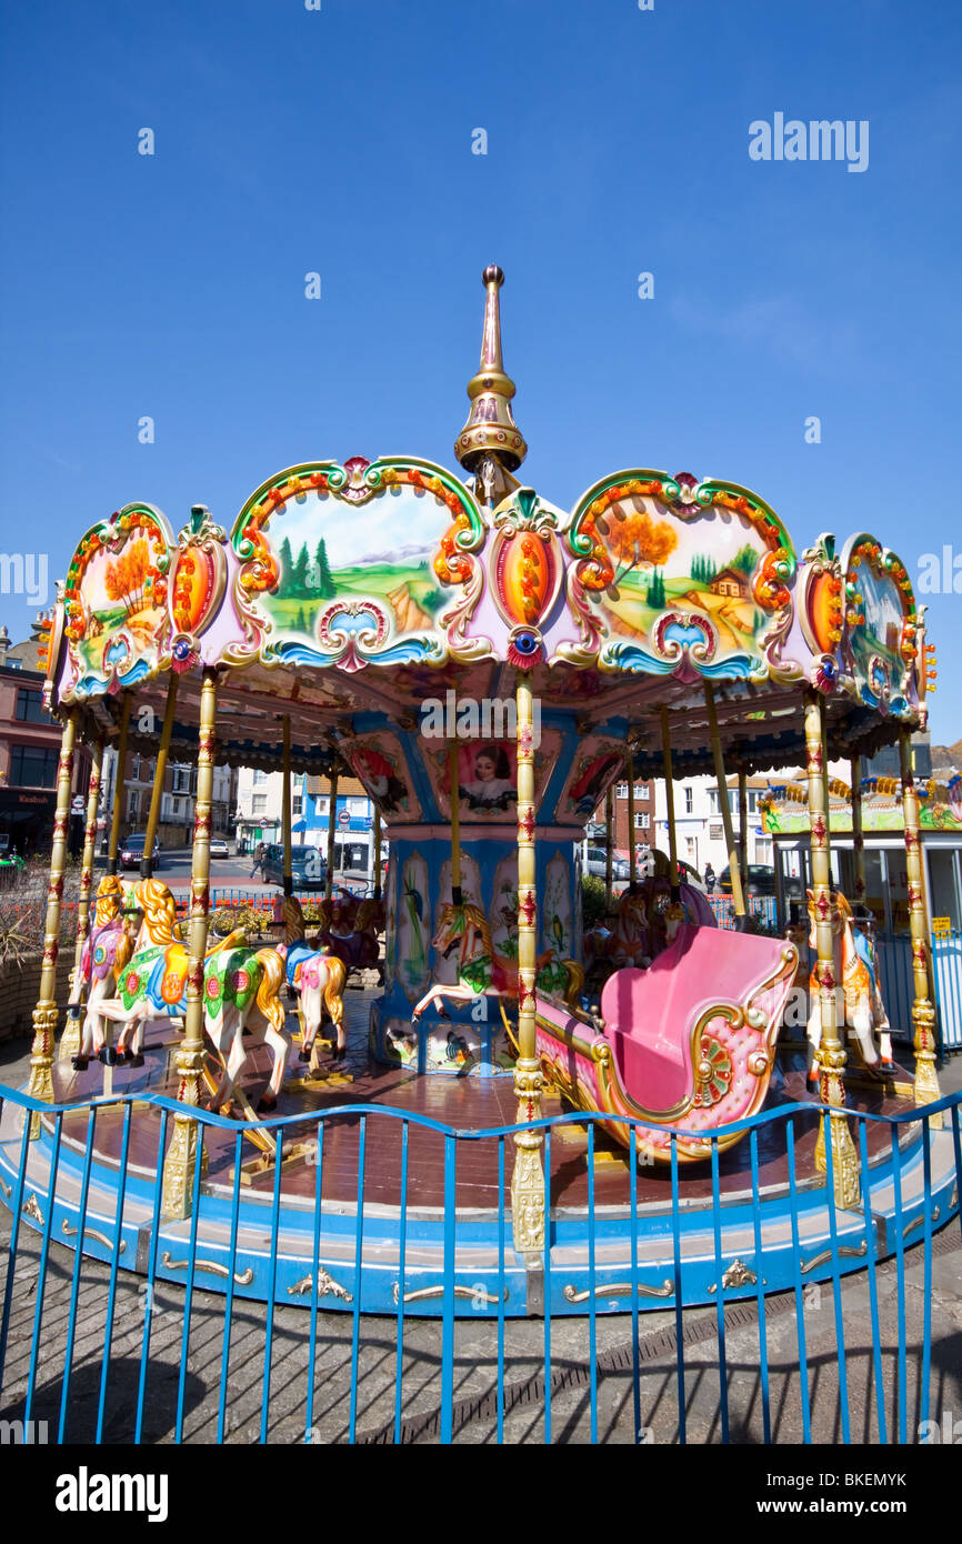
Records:
<instances>
[{"instance_id":1,"label":"gold patterned pole immediately right of the pink chariot","mask_svg":"<svg viewBox=\"0 0 962 1544\"><path fill-rule=\"evenodd\" d=\"M821 1010L821 1039L818 1044L818 1076L820 1096L823 1104L834 1107L845 1106L845 1087L842 1073L845 1070L845 1047L838 1039L835 1024L835 988L842 984L835 980L835 931L834 905L831 888L831 852L828 829L828 806L825 797L825 750L821 729L821 698L811 692L804 706L804 744L808 752L808 808L812 852L812 903L815 908L815 950L818 963L815 967L818 979L818 1004ZM852 1143L848 1121L840 1115L825 1115L818 1127L815 1143L815 1169L828 1173L828 1156L825 1150L826 1127L832 1144L832 1180L835 1206L852 1207L859 1204L859 1156Z\"/></svg>"}]
</instances>

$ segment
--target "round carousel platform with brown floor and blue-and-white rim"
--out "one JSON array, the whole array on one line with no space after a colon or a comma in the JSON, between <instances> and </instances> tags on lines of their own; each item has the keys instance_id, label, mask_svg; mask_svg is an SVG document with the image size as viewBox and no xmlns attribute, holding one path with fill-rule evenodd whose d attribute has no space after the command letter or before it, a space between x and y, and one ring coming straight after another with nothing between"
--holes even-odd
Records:
<instances>
[{"instance_id":1,"label":"round carousel platform with brown floor and blue-and-white rim","mask_svg":"<svg viewBox=\"0 0 962 1544\"><path fill-rule=\"evenodd\" d=\"M88 1101L100 1096L103 1070L57 1064L57 1099L79 1107L62 1119L59 1152L57 1121L43 1116L20 1186L22 1110L5 1102L0 1198L12 1206L20 1195L23 1223L43 1229L53 1189L49 1237L76 1248L83 1212L85 1254L113 1261L119 1246L120 1269L185 1282L193 1260L198 1288L372 1314L395 1314L401 1294L405 1312L439 1315L446 1305L511 1317L710 1303L720 1283L726 1300L781 1291L863 1269L923 1237L922 1122L852 1122L857 1147L865 1130L862 1203L835 1209L815 1173L814 1109L797 1109L814 1106L804 1065L789 1055L755 1138L724 1152L715 1175L710 1163L679 1166L676 1194L669 1167L632 1173L627 1152L584 1116L553 1124L544 1149L550 1241L525 1258L511 1244L513 1138L483 1135L514 1122L511 1081L371 1067L369 994L351 993L347 1008L349 1055L335 1076L306 1082L292 1061L278 1112L289 1118L290 1155L279 1181L249 1139L238 1175L239 1122L216 1121L205 1126L196 1217L159 1221L164 1106L148 1096L176 1092L178 1036L167 1031L148 1041L142 1068L114 1070L114 1095L136 1101L125 1164L125 1104L100 1106L90 1138ZM267 1073L263 1056L247 1084L255 1102ZM849 1109L891 1116L911 1107L860 1087ZM561 1118L561 1099L548 1096L544 1113ZM168 1136L171 1129L168 1113ZM940 1227L957 1209L951 1133L930 1135L930 1226Z\"/></svg>"}]
</instances>

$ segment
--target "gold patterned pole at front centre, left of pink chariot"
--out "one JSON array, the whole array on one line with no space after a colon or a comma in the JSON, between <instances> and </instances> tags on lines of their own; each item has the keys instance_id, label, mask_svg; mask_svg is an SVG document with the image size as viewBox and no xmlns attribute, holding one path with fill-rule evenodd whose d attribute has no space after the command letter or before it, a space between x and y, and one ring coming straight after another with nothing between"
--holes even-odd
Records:
<instances>
[{"instance_id":1,"label":"gold patterned pole at front centre, left of pink chariot","mask_svg":"<svg viewBox=\"0 0 962 1544\"><path fill-rule=\"evenodd\" d=\"M517 1048L514 1093L517 1124L540 1116L542 1073L537 1059L536 971L537 971L537 891L534 880L534 729L531 678L519 673L517 689ZM511 1217L514 1248L537 1254L545 1246L545 1175L540 1160L540 1132L520 1132L514 1138L511 1175Z\"/></svg>"}]
</instances>

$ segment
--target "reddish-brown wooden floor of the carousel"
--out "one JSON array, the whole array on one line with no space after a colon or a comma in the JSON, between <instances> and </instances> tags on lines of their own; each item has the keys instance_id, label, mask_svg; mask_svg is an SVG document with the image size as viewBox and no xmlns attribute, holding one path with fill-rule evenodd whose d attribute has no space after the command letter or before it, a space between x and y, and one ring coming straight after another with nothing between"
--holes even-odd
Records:
<instances>
[{"instance_id":1,"label":"reddish-brown wooden floor of the carousel","mask_svg":"<svg viewBox=\"0 0 962 1544\"><path fill-rule=\"evenodd\" d=\"M343 1070L354 1081L338 1087L324 1082L303 1084L301 1064L292 1062L281 1093L278 1113L298 1115L346 1109L355 1104L377 1104L398 1115L423 1115L459 1132L479 1132L499 1126L511 1126L516 1119L513 1079L510 1076L423 1076L408 1070L372 1067L368 1061L368 993L347 996L347 1045L349 1055ZM116 1068L114 1092L176 1093L173 1058L176 1038L147 1048L147 1064L139 1070ZM270 1056L259 1050L252 1058L252 1073L246 1090L256 1104L267 1084ZM906 1076L906 1075L902 1075ZM69 1065L54 1067L57 1099L71 1102L86 1099L102 1092L102 1068L91 1062L85 1073L74 1073ZM886 1099L883 1093L869 1090L849 1092L852 1109L872 1113L896 1113L906 1109L903 1099ZM778 1104L809 1101L801 1059L789 1070L777 1068L766 1109ZM547 1116L561 1115L557 1096L544 1101ZM795 1126L795 1175L800 1184L812 1183L814 1146L817 1122L794 1116ZM395 1207L401 1201L401 1129L403 1121L388 1115L368 1115L364 1119L364 1175L363 1195L366 1204ZM786 1186L789 1164L786 1156L786 1121L774 1121L758 1132L760 1186ZM408 1206L445 1206L445 1138L417 1124L408 1126ZM358 1155L361 1116L346 1115L324 1122L323 1143L323 1197L324 1201L352 1206L358 1195ZM153 1175L158 1164L161 1115L150 1106L134 1109L130 1136L130 1164ZM315 1122L292 1126L286 1132L287 1143L307 1141L315 1135ZM624 1206L630 1198L628 1163L624 1149L613 1143L601 1129L596 1130L593 1189L596 1207ZM86 1136L86 1115L65 1118L63 1138L82 1144ZM97 1115L96 1149L111 1161L120 1153L122 1113L105 1109ZM889 1129L868 1122L869 1156L882 1153L889 1144ZM499 1195L497 1139L479 1138L457 1141L456 1204L459 1209L491 1207ZM588 1204L588 1138L584 1126L557 1129L551 1138L551 1206L582 1207ZM207 1129L208 1184L230 1186L233 1178L235 1138L232 1132ZM256 1150L244 1143L242 1161L255 1160ZM505 1141L505 1175L510 1180L513 1166L513 1143ZM712 1195L712 1175L707 1163L681 1166L683 1203L704 1203ZM286 1195L313 1197L317 1186L315 1166L300 1161L283 1169L283 1192ZM246 1175L246 1187L270 1194L273 1169ZM743 1138L720 1158L720 1190L733 1197L750 1189L750 1149ZM667 1167L642 1167L638 1170L638 1204L670 1204L670 1170Z\"/></svg>"}]
</instances>

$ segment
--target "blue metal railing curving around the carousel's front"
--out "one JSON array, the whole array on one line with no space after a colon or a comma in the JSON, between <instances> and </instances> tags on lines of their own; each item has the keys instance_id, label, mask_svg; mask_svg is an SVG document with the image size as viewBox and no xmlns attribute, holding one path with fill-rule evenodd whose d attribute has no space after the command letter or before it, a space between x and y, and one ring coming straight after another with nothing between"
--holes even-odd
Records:
<instances>
[{"instance_id":1,"label":"blue metal railing curving around the carousel's front","mask_svg":"<svg viewBox=\"0 0 962 1544\"><path fill-rule=\"evenodd\" d=\"M212 1175L204 1178L202 1170L204 1143L198 1143L187 1175L191 1215L170 1223L162 1214L162 1161L182 1106L159 1095L141 1096L136 1104L117 1096L43 1106L6 1089L0 1089L0 1177L8 1209L0 1217L9 1232L0 1419L46 1420L59 1442L208 1442L212 1434L224 1442L250 1441L252 1431L261 1442L550 1442L553 1436L590 1442L627 1436L636 1444L724 1442L729 1436L778 1442L797 1441L797 1417L806 1442L837 1441L837 1430L846 1442L906 1442L922 1439L930 1420L928 1286L936 1224L945 1227L959 1210L962 1095L905 1115L848 1110L826 1121L848 1118L854 1126L859 1210L835 1207L831 1141L825 1144L828 1175L812 1189L811 1155L803 1158L798 1144L821 1118L818 1106L791 1104L699 1132L699 1138L710 1138L710 1207L701 1214L701 1234L692 1231L679 1163L679 1144L695 1133L672 1133L656 1214L639 1201L638 1164L624 1164L628 1254L618 1265L611 1263L611 1197L605 1195L602 1207L596 1195L601 1116L579 1113L468 1132L398 1109L346 1106L258 1122L278 1144L284 1135L303 1141L312 1133L313 1177L301 1187L298 1221L283 1192L289 1169L269 1163L252 1223L250 1192L244 1197L241 1189L247 1130L196 1112L212 1143L227 1133L233 1170L215 1204ZM36 1139L29 1135L32 1113L42 1116ZM147 1115L154 1129L145 1127ZM939 1115L945 1130L936 1129ZM100 1126L103 1136L107 1129L113 1133L110 1164L97 1160ZM506 1206L514 1136L540 1132L551 1173L551 1143L565 1141L571 1126L587 1127L587 1207L565 1209L562 1186L553 1198L544 1249L522 1257L511 1244ZM628 1126L636 1158L639 1127ZM357 1144L354 1177L344 1180L343 1152L335 1160L329 1149L346 1127L354 1129ZM374 1139L383 1132L395 1135L400 1149L392 1164L400 1186L391 1209L388 1278L395 1277L395 1295L389 1308L380 1308L378 1299L386 1209L369 1195L375 1149L378 1164L384 1163L384 1144L377 1147ZM733 1132L747 1135L749 1143L750 1192L741 1204L723 1190L721 1147ZM784 1203L772 1214L760 1150L771 1153L775 1133L784 1146ZM443 1198L434 1221L420 1194L423 1169L411 1161L412 1144L428 1139L435 1144ZM473 1232L474 1212L459 1207L459 1187L477 1175L482 1158L493 1189L493 1258ZM337 1203L327 1194L326 1167L337 1170L338 1163L354 1204L346 1192L338 1192L343 1198ZM872 1197L880 1163L894 1194L888 1215L876 1209ZM145 1180L151 1169L156 1178ZM821 1214L825 1248L806 1258L815 1237L812 1218ZM298 1226L295 1246L292 1231ZM740 1237L737 1258L732 1227ZM953 1241L956 1227L953 1221ZM652 1280L641 1249L658 1231L666 1263ZM564 1280L573 1274L574 1237L581 1249L576 1283ZM63 1248L71 1238L73 1257ZM435 1266L425 1288L418 1283L431 1249ZM304 1271L293 1285L292 1255ZM618 1282L611 1280L615 1271L622 1277ZM712 1280L698 1300L713 1302L715 1314L689 1322L684 1308L699 1271ZM848 1282L862 1271L868 1314L865 1292ZM888 1274L885 1314L879 1306L882 1272ZM922 1291L911 1289L909 1277L917 1275ZM161 1288L165 1300L158 1297ZM212 1291L222 1295L212 1297ZM519 1292L520 1312L513 1306ZM632 1317L622 1323L630 1323L630 1337L625 1331L613 1346L611 1336L601 1334L601 1317L615 1308L624 1312L625 1297ZM435 1319L418 1317L426 1299ZM469 1302L460 1309L465 1299ZM292 1303L303 1306L298 1311ZM645 1336L641 1312L652 1306L662 1314L673 1309L672 1331L659 1319L656 1331ZM818 1308L826 1311L818 1314ZM469 1315L465 1334L459 1332L462 1312ZM556 1348L553 1326L562 1314L571 1328ZM581 1317L571 1322L573 1314ZM777 1323L780 1317L789 1320L791 1332ZM937 1323L936 1329L937 1353L948 1354L951 1326ZM730 1339L735 1331L737 1340ZM703 1340L713 1345L707 1363L698 1353ZM205 1380L193 1373L198 1362L208 1373ZM716 1393L707 1399L706 1366L712 1365ZM624 1397L602 1399L605 1385ZM871 1391L863 1400L866 1387ZM554 1402L562 1396L564 1422L556 1422Z\"/></svg>"}]
</instances>

